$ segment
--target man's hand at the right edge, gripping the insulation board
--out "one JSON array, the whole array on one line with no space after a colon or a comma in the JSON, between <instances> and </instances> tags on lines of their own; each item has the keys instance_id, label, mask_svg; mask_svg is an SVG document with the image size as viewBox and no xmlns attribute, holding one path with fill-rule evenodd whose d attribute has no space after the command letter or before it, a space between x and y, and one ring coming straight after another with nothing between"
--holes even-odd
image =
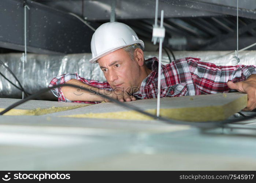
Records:
<instances>
[{"instance_id":1,"label":"man's hand at the right edge, gripping the insulation board","mask_svg":"<svg viewBox=\"0 0 256 183\"><path fill-rule=\"evenodd\" d=\"M229 81L227 86L232 90L248 94L248 105L243 111L252 111L256 108L256 74L249 76L246 81L236 83Z\"/></svg>"}]
</instances>

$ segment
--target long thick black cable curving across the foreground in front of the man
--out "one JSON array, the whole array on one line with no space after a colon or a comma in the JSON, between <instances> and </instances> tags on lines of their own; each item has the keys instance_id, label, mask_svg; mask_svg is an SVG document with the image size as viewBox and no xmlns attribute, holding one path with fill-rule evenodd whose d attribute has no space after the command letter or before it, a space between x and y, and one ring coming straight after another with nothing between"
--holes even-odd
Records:
<instances>
[{"instance_id":1,"label":"long thick black cable curving across the foreground in front of the man","mask_svg":"<svg viewBox=\"0 0 256 183\"><path fill-rule=\"evenodd\" d=\"M171 119L167 119L167 118L161 117L161 116L157 117L156 115L153 115L151 113L145 112L145 111L141 110L140 108L134 107L132 105L128 105L125 102L120 102L118 100L115 100L115 99L107 96L107 95L99 94L99 93L97 93L97 91L92 91L90 89L87 89L87 88L84 88L84 87L80 87L80 86L77 86L77 85L71 85L71 84L60 84L60 85L56 85L56 86L52 86L52 87L41 89L40 91L37 91L36 93L34 93L34 94L24 98L23 100L20 100L18 102L15 102L14 104L10 105L9 107L7 107L3 111L1 111L0 115L3 115L4 113L10 111L11 109L17 107L20 104L23 104L24 102L26 102L28 100L36 98L37 96L45 93L46 91L55 89L57 87L62 87L62 86L71 86L71 87L80 88L81 90L89 91L89 92L91 92L93 94L97 94L99 96L107 98L111 102L115 102L116 104L118 104L118 105L120 105L122 107L135 110L135 111L140 112L140 113L142 113L142 114L144 114L146 116L152 117L153 119L158 119L160 121L163 121L163 122L169 123L169 124L185 124L185 125L196 126L196 127L200 127L200 128L216 128L216 127L223 127L223 125L227 124L227 123L242 121L241 119L240 120L236 120L235 119L235 120L225 120L225 121L220 121L220 122L215 122L215 121L212 121L212 122L209 122L209 121L208 122L185 122L185 121L179 121L179 120L171 120ZM246 117L244 119L248 119L250 117L255 117L255 116L256 116L256 114L252 115L252 116L249 116L249 117Z\"/></svg>"}]
</instances>

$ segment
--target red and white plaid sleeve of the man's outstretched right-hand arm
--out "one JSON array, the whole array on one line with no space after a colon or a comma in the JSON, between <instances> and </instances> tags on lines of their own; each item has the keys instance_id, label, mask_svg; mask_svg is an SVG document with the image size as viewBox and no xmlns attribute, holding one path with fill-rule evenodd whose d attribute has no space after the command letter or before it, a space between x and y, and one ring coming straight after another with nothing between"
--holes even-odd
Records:
<instances>
[{"instance_id":1,"label":"red and white plaid sleeve of the man's outstretched right-hand arm","mask_svg":"<svg viewBox=\"0 0 256 183\"><path fill-rule=\"evenodd\" d=\"M192 57L186 60L193 82L205 94L228 92L228 81L245 81L250 75L256 74L255 65L216 66Z\"/></svg>"}]
</instances>

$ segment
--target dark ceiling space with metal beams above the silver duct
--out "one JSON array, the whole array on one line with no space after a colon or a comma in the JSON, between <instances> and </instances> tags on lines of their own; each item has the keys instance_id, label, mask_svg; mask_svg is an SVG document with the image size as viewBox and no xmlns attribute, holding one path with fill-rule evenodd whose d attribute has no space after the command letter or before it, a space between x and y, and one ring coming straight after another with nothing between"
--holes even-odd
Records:
<instances>
[{"instance_id":1,"label":"dark ceiling space with metal beams above the silver duct","mask_svg":"<svg viewBox=\"0 0 256 183\"><path fill-rule=\"evenodd\" d=\"M4 6L3 1L5 7L7 7L6 3L9 3L10 12L19 12L20 18L24 16L23 1L2 0L0 7ZM14 1L20 3L19 8L13 3ZM68 14L70 12L95 29L102 23L109 22L110 19L126 23L146 43L147 51L157 49L151 43L155 0L27 0L26 3L31 7L28 10L29 52L90 52L90 38L93 31L77 17ZM239 49L242 49L256 42L256 3L255 0L239 0L238 7L238 41ZM236 0L159 0L159 12L160 10L164 10L166 29L164 46L172 50L235 50L237 48ZM3 16L0 17L5 22L5 32L10 36L10 31L15 27L12 27L12 30L6 28L10 27L11 20L7 18L10 14L8 16L6 13L4 15L4 12L2 14ZM8 36L0 35L0 47L21 51L24 49L24 31L22 34L24 20L21 19L22 21L19 37L16 38L20 41L19 46L15 46L17 44L15 40L9 39L8 42L7 39L3 39ZM3 26L0 28L3 29ZM43 29L45 26L47 29ZM45 41L45 37L48 41Z\"/></svg>"}]
</instances>

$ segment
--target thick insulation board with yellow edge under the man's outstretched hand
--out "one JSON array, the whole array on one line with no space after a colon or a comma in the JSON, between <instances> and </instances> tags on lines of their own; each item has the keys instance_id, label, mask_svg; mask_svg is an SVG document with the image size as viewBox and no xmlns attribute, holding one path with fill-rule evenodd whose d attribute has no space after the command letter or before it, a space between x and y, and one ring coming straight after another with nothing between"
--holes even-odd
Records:
<instances>
[{"instance_id":1,"label":"thick insulation board with yellow edge under the man's outstretched hand","mask_svg":"<svg viewBox=\"0 0 256 183\"><path fill-rule=\"evenodd\" d=\"M224 120L237 113L247 105L247 94L219 93L199 96L161 98L160 116L184 121ZM126 102L156 115L157 99L146 99ZM67 113L56 113L62 117L88 117L103 119L151 120L151 117L120 107L112 102L71 110Z\"/></svg>"}]
</instances>

